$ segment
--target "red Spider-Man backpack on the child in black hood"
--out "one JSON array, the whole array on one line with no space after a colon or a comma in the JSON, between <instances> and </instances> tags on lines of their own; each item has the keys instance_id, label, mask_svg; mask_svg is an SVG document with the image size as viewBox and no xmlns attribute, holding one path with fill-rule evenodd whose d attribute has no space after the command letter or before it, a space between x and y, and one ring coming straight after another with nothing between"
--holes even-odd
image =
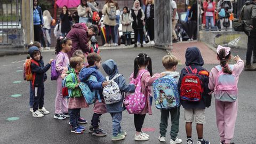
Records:
<instances>
[{"instance_id":1,"label":"red Spider-Man backpack on the child in black hood","mask_svg":"<svg viewBox=\"0 0 256 144\"><path fill-rule=\"evenodd\" d=\"M192 73L189 72L188 68ZM197 73L197 69L185 67L188 74L185 75L181 80L180 86L180 98L185 101L201 101L203 87L202 87L202 76Z\"/></svg>"}]
</instances>

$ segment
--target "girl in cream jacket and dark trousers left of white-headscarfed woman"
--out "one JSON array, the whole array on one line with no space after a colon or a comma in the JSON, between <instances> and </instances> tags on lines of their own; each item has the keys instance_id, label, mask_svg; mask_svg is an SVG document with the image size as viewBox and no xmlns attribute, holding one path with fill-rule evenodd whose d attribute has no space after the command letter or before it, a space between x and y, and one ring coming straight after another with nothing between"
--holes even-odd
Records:
<instances>
[{"instance_id":1,"label":"girl in cream jacket and dark trousers left of white-headscarfed woman","mask_svg":"<svg viewBox=\"0 0 256 144\"><path fill-rule=\"evenodd\" d=\"M132 33L132 21L129 19L128 7L123 8L123 14L121 15L122 31L124 35L125 46L131 44L131 33ZM128 41L127 41L128 37Z\"/></svg>"}]
</instances>

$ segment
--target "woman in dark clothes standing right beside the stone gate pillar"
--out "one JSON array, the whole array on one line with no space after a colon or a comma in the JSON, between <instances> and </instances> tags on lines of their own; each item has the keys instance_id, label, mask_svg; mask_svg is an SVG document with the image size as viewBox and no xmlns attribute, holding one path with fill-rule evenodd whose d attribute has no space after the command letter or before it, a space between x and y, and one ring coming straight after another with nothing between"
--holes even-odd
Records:
<instances>
[{"instance_id":1,"label":"woman in dark clothes standing right beside the stone gate pillar","mask_svg":"<svg viewBox=\"0 0 256 144\"><path fill-rule=\"evenodd\" d=\"M148 35L150 38L150 44L154 43L155 33L154 33L154 0L146 0L146 8L145 8L145 22L147 26Z\"/></svg>"}]
</instances>

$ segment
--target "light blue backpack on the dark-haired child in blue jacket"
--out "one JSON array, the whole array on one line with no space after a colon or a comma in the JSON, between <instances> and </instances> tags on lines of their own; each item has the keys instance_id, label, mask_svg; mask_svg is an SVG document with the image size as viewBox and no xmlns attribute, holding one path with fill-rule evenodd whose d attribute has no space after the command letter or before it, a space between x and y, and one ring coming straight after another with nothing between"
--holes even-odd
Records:
<instances>
[{"instance_id":1,"label":"light blue backpack on the dark-haired child in blue jacket","mask_svg":"<svg viewBox=\"0 0 256 144\"><path fill-rule=\"evenodd\" d=\"M91 105L95 102L95 93L97 93L98 100L101 102L99 90L93 90L91 91L90 87L87 85L87 81L97 81L97 78L93 75L91 75L85 82L80 82L78 86L80 87L82 94L84 95L85 101L88 105Z\"/></svg>"}]
</instances>

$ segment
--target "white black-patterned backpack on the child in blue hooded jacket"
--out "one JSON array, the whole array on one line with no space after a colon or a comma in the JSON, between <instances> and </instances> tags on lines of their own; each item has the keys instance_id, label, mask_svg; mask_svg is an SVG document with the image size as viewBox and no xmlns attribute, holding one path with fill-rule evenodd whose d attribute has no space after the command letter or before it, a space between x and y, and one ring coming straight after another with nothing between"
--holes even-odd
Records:
<instances>
[{"instance_id":1,"label":"white black-patterned backpack on the child in blue hooded jacket","mask_svg":"<svg viewBox=\"0 0 256 144\"><path fill-rule=\"evenodd\" d=\"M106 104L116 103L122 99L122 93L118 84L115 82L115 79L119 76L121 75L117 74L110 80L108 76L106 77L109 82L109 84L103 88L103 96Z\"/></svg>"}]
</instances>

